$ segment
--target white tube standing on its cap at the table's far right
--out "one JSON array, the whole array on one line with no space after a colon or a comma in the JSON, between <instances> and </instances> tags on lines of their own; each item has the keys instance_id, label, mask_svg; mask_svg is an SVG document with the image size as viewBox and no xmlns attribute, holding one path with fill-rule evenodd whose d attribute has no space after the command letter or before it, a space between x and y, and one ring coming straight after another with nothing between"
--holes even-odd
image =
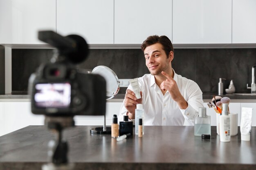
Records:
<instances>
[{"instance_id":1,"label":"white tube standing on its cap at the table's far right","mask_svg":"<svg viewBox=\"0 0 256 170\"><path fill-rule=\"evenodd\" d=\"M241 140L250 141L250 131L252 128L252 108L242 108L241 113Z\"/></svg>"}]
</instances>

